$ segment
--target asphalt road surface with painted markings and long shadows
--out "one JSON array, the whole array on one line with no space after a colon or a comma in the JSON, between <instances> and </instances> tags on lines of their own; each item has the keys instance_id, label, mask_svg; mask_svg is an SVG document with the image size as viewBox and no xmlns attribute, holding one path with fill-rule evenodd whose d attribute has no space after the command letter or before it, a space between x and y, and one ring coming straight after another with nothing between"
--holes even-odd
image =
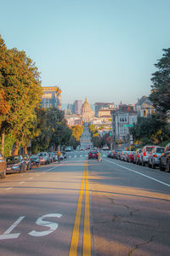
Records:
<instances>
[{"instance_id":1,"label":"asphalt road surface with painted markings and long shadows","mask_svg":"<svg viewBox=\"0 0 170 256\"><path fill-rule=\"evenodd\" d=\"M0 256L170 255L170 174L106 154L0 180Z\"/></svg>"}]
</instances>

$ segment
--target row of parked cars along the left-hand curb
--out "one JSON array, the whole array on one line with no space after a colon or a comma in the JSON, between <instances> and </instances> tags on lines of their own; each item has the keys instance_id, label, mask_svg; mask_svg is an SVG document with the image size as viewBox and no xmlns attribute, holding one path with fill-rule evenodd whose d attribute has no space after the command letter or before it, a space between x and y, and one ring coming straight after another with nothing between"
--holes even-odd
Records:
<instances>
[{"instance_id":1,"label":"row of parked cars along the left-hand curb","mask_svg":"<svg viewBox=\"0 0 170 256\"><path fill-rule=\"evenodd\" d=\"M60 160L67 157L65 152L61 152ZM58 160L57 152L41 152L37 154L11 155L6 158L0 152L0 177L5 177L6 173L26 172L32 166L48 165Z\"/></svg>"}]
</instances>

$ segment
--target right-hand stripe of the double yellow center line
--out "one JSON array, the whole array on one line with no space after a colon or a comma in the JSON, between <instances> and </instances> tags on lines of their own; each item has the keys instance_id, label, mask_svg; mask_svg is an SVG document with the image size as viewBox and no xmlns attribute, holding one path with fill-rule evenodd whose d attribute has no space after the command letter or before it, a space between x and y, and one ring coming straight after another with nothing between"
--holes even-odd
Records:
<instances>
[{"instance_id":1,"label":"right-hand stripe of the double yellow center line","mask_svg":"<svg viewBox=\"0 0 170 256\"><path fill-rule=\"evenodd\" d=\"M88 191L88 164L86 166L86 188L85 188L85 207L84 207L84 231L82 239L82 256L91 255L91 234L90 234L90 209Z\"/></svg>"}]
</instances>

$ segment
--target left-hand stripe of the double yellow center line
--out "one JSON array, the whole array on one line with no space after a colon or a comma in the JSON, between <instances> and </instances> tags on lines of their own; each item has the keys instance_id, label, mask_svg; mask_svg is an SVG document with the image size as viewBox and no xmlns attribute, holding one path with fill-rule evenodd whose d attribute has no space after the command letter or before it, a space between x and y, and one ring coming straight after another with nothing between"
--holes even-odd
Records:
<instances>
[{"instance_id":1,"label":"left-hand stripe of the double yellow center line","mask_svg":"<svg viewBox=\"0 0 170 256\"><path fill-rule=\"evenodd\" d=\"M79 228L80 228L81 213L82 213L82 197L83 197L83 189L84 189L84 179L85 179L85 168L82 174L82 185L81 185L80 194L79 194L78 203L77 203L77 213L75 217L74 227L72 230L71 247L69 251L69 256L77 256Z\"/></svg>"}]
</instances>

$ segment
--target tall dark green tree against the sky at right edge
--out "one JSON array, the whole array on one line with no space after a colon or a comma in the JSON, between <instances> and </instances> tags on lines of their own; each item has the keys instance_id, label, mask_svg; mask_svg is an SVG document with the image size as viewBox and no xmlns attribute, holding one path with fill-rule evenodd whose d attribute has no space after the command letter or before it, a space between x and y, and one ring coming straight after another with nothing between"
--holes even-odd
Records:
<instances>
[{"instance_id":1,"label":"tall dark green tree against the sky at right edge","mask_svg":"<svg viewBox=\"0 0 170 256\"><path fill-rule=\"evenodd\" d=\"M160 118L165 119L170 111L170 48L163 49L163 55L155 67L157 71L152 73L150 100Z\"/></svg>"}]
</instances>

